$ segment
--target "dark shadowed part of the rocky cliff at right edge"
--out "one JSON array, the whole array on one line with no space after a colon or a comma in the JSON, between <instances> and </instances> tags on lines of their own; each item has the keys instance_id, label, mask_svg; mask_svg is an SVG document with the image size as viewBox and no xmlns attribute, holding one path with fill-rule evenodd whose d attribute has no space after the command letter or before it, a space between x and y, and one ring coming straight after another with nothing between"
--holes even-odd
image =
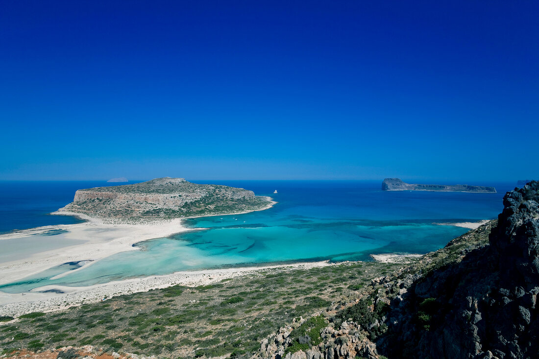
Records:
<instances>
[{"instance_id":1,"label":"dark shadowed part of the rocky cliff at right edge","mask_svg":"<svg viewBox=\"0 0 539 359\"><path fill-rule=\"evenodd\" d=\"M538 203L538 182L508 192L489 245L414 281L392 301L378 350L403 358L537 357Z\"/></svg>"}]
</instances>

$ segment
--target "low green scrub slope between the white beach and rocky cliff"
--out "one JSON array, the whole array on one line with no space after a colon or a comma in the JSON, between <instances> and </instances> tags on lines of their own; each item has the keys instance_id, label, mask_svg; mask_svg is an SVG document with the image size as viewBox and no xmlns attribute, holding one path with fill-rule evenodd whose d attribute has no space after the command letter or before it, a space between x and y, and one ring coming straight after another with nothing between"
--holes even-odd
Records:
<instances>
[{"instance_id":1,"label":"low green scrub slope between the white beach and rocky cliff","mask_svg":"<svg viewBox=\"0 0 539 359\"><path fill-rule=\"evenodd\" d=\"M293 332L288 350L295 351L319 343L328 309L361 296L358 291L369 287L370 278L387 271L387 266L284 267L206 286L172 286L59 312L29 313L20 316L16 325L0 325L0 347L47 350L92 344L109 353L250 357L270 333L299 316L311 317ZM362 301L342 317L353 316L368 325L372 315L383 312L378 308L368 314L364 309L369 305Z\"/></svg>"}]
</instances>

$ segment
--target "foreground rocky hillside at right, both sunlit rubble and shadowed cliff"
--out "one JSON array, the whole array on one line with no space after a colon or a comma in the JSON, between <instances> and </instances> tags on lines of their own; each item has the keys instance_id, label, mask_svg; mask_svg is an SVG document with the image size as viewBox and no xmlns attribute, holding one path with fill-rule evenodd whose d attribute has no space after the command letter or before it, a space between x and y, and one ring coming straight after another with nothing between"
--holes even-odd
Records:
<instances>
[{"instance_id":1,"label":"foreground rocky hillside at right, both sunlit rubble and shadowed cliff","mask_svg":"<svg viewBox=\"0 0 539 359\"><path fill-rule=\"evenodd\" d=\"M372 280L355 302L327 308L320 342L313 332L294 337L293 323L262 342L255 356L536 358L538 204L539 182L508 192L497 221Z\"/></svg>"}]
</instances>

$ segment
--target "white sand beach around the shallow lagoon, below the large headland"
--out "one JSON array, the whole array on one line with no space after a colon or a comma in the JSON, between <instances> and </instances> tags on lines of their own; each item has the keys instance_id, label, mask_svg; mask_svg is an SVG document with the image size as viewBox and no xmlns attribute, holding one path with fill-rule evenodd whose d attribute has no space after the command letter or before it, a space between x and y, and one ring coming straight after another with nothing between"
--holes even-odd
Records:
<instances>
[{"instance_id":1,"label":"white sand beach around the shallow lagoon, below the large headland","mask_svg":"<svg viewBox=\"0 0 539 359\"><path fill-rule=\"evenodd\" d=\"M271 200L271 198L269 199ZM270 204L260 210L271 208L275 203L277 202L271 200ZM230 215L240 215L248 212L252 211L230 213ZM133 244L144 240L168 237L172 234L189 230L203 230L198 228L188 229L182 225L182 219L194 217L153 220L145 223L125 223L122 221L96 219L81 215L80 213L67 211L54 212L52 214L77 216L87 220L87 222L43 226L0 235L1 243L2 240L6 239L30 238L30 236L35 234L62 230L65 232L61 236L74 243L73 245L54 250L33 253L24 259L0 263L0 284L13 282L67 262L88 261L87 264L77 269L80 270L113 254L137 250L137 247L134 247ZM50 238L52 239L54 237ZM80 244L77 242L80 242ZM149 289L164 288L174 284L203 285L224 278L258 271L261 268L227 268L223 270L178 272L159 277L136 278L87 287L54 286L49 288L45 286L39 288L39 291L59 289L65 293L34 292L11 294L0 292L0 313L3 313L0 315L16 316L36 310L54 310L66 306L66 303L68 303L67 306L80 305L84 302L99 301L103 296L110 297L125 293L148 291ZM73 273L74 271L70 272ZM67 272L64 274L67 274ZM62 274L57 275L56 278L60 278L61 276Z\"/></svg>"}]
</instances>

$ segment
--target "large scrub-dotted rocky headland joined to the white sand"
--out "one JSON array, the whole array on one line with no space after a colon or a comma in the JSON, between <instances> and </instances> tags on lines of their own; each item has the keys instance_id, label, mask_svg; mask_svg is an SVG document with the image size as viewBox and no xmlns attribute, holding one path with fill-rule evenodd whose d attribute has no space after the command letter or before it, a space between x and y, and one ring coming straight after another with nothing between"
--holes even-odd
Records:
<instances>
[{"instance_id":1,"label":"large scrub-dotted rocky headland joined to the white sand","mask_svg":"<svg viewBox=\"0 0 539 359\"><path fill-rule=\"evenodd\" d=\"M243 188L164 177L78 190L73 202L58 213L82 213L103 219L172 219L258 211L273 203L271 198L255 196Z\"/></svg>"}]
</instances>

